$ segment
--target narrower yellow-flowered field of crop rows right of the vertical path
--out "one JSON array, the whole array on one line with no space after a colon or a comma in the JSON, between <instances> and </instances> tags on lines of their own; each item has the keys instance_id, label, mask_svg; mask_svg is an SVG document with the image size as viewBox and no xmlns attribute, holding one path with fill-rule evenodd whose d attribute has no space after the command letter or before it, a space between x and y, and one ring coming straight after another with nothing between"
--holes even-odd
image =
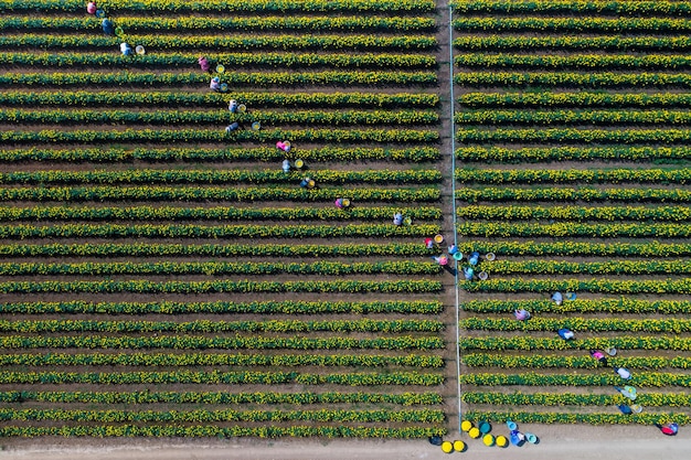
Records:
<instances>
[{"instance_id":1,"label":"narrower yellow-flowered field of crop rows right of the vertical path","mask_svg":"<svg viewBox=\"0 0 691 460\"><path fill-rule=\"evenodd\" d=\"M454 6L464 418L688 424L691 3Z\"/></svg>"}]
</instances>

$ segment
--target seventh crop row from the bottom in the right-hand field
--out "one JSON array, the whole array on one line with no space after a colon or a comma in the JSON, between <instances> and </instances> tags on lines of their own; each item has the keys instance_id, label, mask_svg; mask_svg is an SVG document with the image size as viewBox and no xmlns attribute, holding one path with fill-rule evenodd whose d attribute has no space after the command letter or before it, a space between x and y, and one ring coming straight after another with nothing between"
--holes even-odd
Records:
<instances>
[{"instance_id":1,"label":"seventh crop row from the bottom in the right-hand field","mask_svg":"<svg viewBox=\"0 0 691 460\"><path fill-rule=\"evenodd\" d=\"M536 313L685 314L691 312L691 302L687 300L640 300L626 297L597 300L578 299L561 306L546 300L470 300L464 302L461 308L465 311L477 313L512 313L515 310L525 309Z\"/></svg>"}]
</instances>

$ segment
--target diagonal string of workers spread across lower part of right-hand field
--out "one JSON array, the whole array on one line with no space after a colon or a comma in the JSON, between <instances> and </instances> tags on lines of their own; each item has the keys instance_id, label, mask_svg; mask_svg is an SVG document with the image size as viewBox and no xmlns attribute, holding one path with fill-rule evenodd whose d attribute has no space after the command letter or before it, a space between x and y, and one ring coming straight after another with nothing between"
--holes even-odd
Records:
<instances>
[{"instance_id":1,"label":"diagonal string of workers spread across lower part of right-hand field","mask_svg":"<svg viewBox=\"0 0 691 460\"><path fill-rule=\"evenodd\" d=\"M567 293L567 298L575 299L575 295ZM560 306L562 304L563 296L561 295L561 292L554 292L552 295L552 300L557 306ZM528 312L524 309L514 310L513 314L515 319L519 321L528 321L531 318L530 312ZM575 333L567 328L562 328L557 330L556 334L564 341L570 341L575 338ZM593 359L597 360L599 364L606 367L609 365L609 363L607 362L607 355L609 356L616 355L617 350L615 347L608 347L605 351L593 349L593 350L589 350L588 353ZM630 381L632 377L630 371L625 367L612 366L612 368L625 382ZM635 387L626 385L624 387L615 386L614 388L617 392L619 392L624 397L628 398L630 402L636 400L637 391ZM642 407L637 404L632 404L632 405L620 404L617 406L617 408L624 415L631 415L634 413L638 414L642 410ZM665 435L668 435L668 436L674 436L679 431L679 425L676 422L670 422L666 425L656 424L656 427L658 427Z\"/></svg>"}]
</instances>

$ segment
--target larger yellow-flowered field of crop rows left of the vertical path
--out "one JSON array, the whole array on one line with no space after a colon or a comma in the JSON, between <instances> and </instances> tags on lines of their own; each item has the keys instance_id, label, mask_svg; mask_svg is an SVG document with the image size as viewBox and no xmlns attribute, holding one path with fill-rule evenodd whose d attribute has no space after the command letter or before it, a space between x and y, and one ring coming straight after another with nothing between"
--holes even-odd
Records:
<instances>
[{"instance_id":1,"label":"larger yellow-flowered field of crop rows left of the vertical path","mask_svg":"<svg viewBox=\"0 0 691 460\"><path fill-rule=\"evenodd\" d=\"M0 0L0 436L447 432L434 1L85 6Z\"/></svg>"}]
</instances>

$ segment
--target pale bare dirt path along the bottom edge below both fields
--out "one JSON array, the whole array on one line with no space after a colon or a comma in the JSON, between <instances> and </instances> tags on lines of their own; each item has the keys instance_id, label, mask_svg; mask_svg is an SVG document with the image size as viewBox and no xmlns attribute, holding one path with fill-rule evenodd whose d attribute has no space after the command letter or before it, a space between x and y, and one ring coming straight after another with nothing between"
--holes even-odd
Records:
<instances>
[{"instance_id":1,"label":"pale bare dirt path along the bottom edge below both fields","mask_svg":"<svg viewBox=\"0 0 691 460\"><path fill-rule=\"evenodd\" d=\"M529 428L528 425L523 426ZM540 431L541 430L541 431ZM0 459L17 460L380 460L386 459L511 459L554 460L603 459L687 460L691 451L691 432L674 438L648 427L534 427L540 443L488 448L479 440L468 441L468 450L449 457L426 440L418 441L209 441L209 440L84 440L62 447L47 441L12 440L0 451ZM467 437L466 437L467 440Z\"/></svg>"}]
</instances>

